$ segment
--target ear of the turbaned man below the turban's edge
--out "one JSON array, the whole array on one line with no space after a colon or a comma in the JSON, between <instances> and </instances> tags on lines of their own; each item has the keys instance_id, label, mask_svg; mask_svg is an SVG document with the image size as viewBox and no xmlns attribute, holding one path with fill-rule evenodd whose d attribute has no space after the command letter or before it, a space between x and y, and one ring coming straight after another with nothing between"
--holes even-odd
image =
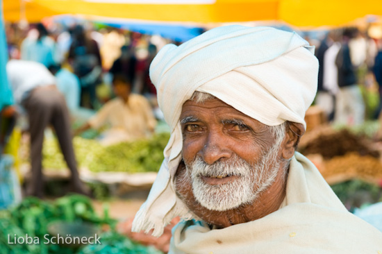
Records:
<instances>
[{"instance_id":1,"label":"ear of the turbaned man below the turban's edge","mask_svg":"<svg viewBox=\"0 0 382 254\"><path fill-rule=\"evenodd\" d=\"M294 151L297 149L300 137L304 135L305 128L302 124L293 123L287 121L285 130L285 137L283 141L283 158L289 160L294 155Z\"/></svg>"}]
</instances>

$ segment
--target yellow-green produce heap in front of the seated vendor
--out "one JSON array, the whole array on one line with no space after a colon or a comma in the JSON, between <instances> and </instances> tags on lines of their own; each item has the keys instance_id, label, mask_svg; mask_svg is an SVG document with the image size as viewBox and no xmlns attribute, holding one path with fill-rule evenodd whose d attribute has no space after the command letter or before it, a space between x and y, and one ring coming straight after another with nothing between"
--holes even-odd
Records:
<instances>
[{"instance_id":1,"label":"yellow-green produce heap in front of the seated vendor","mask_svg":"<svg viewBox=\"0 0 382 254\"><path fill-rule=\"evenodd\" d=\"M168 140L168 133L160 133L150 139L101 146L96 140L74 137L73 146L78 166L90 171L156 172ZM42 157L44 169L67 169L56 139L44 140Z\"/></svg>"}]
</instances>

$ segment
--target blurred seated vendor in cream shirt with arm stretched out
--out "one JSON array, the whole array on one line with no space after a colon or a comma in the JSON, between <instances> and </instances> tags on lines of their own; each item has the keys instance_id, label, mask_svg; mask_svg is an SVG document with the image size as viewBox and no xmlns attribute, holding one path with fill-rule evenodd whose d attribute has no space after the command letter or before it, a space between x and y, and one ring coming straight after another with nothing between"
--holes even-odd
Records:
<instances>
[{"instance_id":1,"label":"blurred seated vendor in cream shirt with arm stretched out","mask_svg":"<svg viewBox=\"0 0 382 254\"><path fill-rule=\"evenodd\" d=\"M124 75L114 76L113 90L117 98L103 105L76 133L108 124L110 128L100 140L104 145L149 137L156 127L149 101L140 94L131 94L131 81Z\"/></svg>"}]
</instances>

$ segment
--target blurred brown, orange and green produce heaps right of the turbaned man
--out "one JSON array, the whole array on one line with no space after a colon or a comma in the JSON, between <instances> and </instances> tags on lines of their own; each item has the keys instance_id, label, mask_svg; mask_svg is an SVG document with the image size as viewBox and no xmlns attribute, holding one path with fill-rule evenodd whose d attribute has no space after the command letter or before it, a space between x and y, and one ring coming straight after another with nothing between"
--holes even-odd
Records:
<instances>
[{"instance_id":1,"label":"blurred brown, orange and green produce heaps right of the turbaned man","mask_svg":"<svg viewBox=\"0 0 382 254\"><path fill-rule=\"evenodd\" d=\"M301 138L299 151L312 161L348 210L382 201L381 146L377 122L358 128L322 125Z\"/></svg>"}]
</instances>

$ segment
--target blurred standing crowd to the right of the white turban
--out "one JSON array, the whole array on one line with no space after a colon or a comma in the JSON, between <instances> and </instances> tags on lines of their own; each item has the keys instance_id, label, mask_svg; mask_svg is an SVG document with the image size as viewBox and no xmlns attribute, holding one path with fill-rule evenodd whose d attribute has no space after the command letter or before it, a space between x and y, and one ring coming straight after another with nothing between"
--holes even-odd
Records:
<instances>
[{"instance_id":1,"label":"blurred standing crowd to the right of the white turban","mask_svg":"<svg viewBox=\"0 0 382 254\"><path fill-rule=\"evenodd\" d=\"M382 28L381 28L382 29ZM382 40L367 30L329 31L316 48L319 60L315 104L338 125L378 119L382 109Z\"/></svg>"}]
</instances>

